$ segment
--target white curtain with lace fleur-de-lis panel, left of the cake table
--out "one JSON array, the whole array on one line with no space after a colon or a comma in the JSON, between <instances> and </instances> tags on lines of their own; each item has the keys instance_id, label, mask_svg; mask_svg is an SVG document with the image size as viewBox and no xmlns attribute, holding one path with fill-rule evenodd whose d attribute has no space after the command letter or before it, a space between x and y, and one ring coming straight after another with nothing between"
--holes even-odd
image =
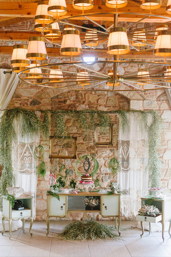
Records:
<instances>
[{"instance_id":1,"label":"white curtain with lace fleur-de-lis panel, left of the cake table","mask_svg":"<svg viewBox=\"0 0 171 257\"><path fill-rule=\"evenodd\" d=\"M34 137L22 137L20 122L14 121L17 142L12 145L12 163L15 176L15 186L24 189L25 194L34 197L33 218L36 216L36 188L37 175L35 167L38 160L34 158L34 150L39 145L40 135Z\"/></svg>"}]
</instances>

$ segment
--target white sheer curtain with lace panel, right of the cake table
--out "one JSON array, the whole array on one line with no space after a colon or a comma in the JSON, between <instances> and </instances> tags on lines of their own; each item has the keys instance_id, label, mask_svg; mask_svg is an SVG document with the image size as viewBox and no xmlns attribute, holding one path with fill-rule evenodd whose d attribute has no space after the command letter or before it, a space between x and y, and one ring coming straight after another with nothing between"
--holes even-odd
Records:
<instances>
[{"instance_id":1,"label":"white sheer curtain with lace panel, right of the cake table","mask_svg":"<svg viewBox=\"0 0 171 257\"><path fill-rule=\"evenodd\" d=\"M139 125L141 113L128 113L127 118L129 130L123 133L119 117L118 160L121 168L117 182L123 192L122 216L133 219L141 206L140 198L148 192L148 140L146 131L142 131Z\"/></svg>"}]
</instances>

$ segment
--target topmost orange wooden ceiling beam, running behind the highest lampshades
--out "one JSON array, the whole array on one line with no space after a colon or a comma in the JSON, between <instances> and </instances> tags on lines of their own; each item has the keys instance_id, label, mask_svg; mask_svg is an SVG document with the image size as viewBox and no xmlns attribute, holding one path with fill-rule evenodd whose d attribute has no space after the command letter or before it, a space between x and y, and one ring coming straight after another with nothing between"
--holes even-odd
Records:
<instances>
[{"instance_id":1,"label":"topmost orange wooden ceiling beam, running behind the highest lampshades","mask_svg":"<svg viewBox=\"0 0 171 257\"><path fill-rule=\"evenodd\" d=\"M3 9L1 9L3 8ZM37 3L23 3L23 2L3 2L2 7L0 7L0 16L5 17L29 17L34 18L36 13ZM62 18L67 18L70 16L81 15L81 11L78 11L72 7L72 4L67 4L68 14L63 16ZM113 12L114 9L107 7L106 5L95 5L93 9L88 10L86 13L106 13L106 12ZM146 10L141 9L139 6L130 6L128 4L126 7L121 9L121 12L133 12L135 14L131 15L131 17L127 17L127 15L123 15L122 18L119 17L121 21L137 21L139 17L136 13L142 13ZM146 11L148 13L148 11ZM166 14L166 7L161 7L153 11L154 14L164 15L170 17L169 14ZM77 19L82 19L81 17L77 17ZM157 18L152 17L151 19L146 19L143 22L155 22ZM101 21L112 21L113 20L113 13L110 15L101 15L99 17L95 17L95 20ZM162 18L160 18L161 22L164 22Z\"/></svg>"}]
</instances>

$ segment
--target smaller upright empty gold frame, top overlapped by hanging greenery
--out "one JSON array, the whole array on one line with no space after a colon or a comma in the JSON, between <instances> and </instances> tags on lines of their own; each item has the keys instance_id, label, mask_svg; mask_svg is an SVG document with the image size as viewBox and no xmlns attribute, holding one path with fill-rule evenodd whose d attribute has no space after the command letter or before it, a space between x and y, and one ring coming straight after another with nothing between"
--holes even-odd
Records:
<instances>
[{"instance_id":1,"label":"smaller upright empty gold frame, top overlapped by hanging greenery","mask_svg":"<svg viewBox=\"0 0 171 257\"><path fill-rule=\"evenodd\" d=\"M113 125L108 125L104 131L99 124L94 130L94 145L95 146L113 146Z\"/></svg>"}]
</instances>

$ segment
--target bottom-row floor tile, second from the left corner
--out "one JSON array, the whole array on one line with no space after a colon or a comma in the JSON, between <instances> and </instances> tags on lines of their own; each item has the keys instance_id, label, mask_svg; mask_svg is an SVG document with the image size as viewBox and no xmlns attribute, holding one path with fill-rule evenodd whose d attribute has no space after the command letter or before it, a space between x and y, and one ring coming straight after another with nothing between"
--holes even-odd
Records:
<instances>
[{"instance_id":1,"label":"bottom-row floor tile, second from the left corner","mask_svg":"<svg viewBox=\"0 0 171 257\"><path fill-rule=\"evenodd\" d=\"M13 246L10 257L46 257L49 256L50 247L47 246Z\"/></svg>"}]
</instances>

